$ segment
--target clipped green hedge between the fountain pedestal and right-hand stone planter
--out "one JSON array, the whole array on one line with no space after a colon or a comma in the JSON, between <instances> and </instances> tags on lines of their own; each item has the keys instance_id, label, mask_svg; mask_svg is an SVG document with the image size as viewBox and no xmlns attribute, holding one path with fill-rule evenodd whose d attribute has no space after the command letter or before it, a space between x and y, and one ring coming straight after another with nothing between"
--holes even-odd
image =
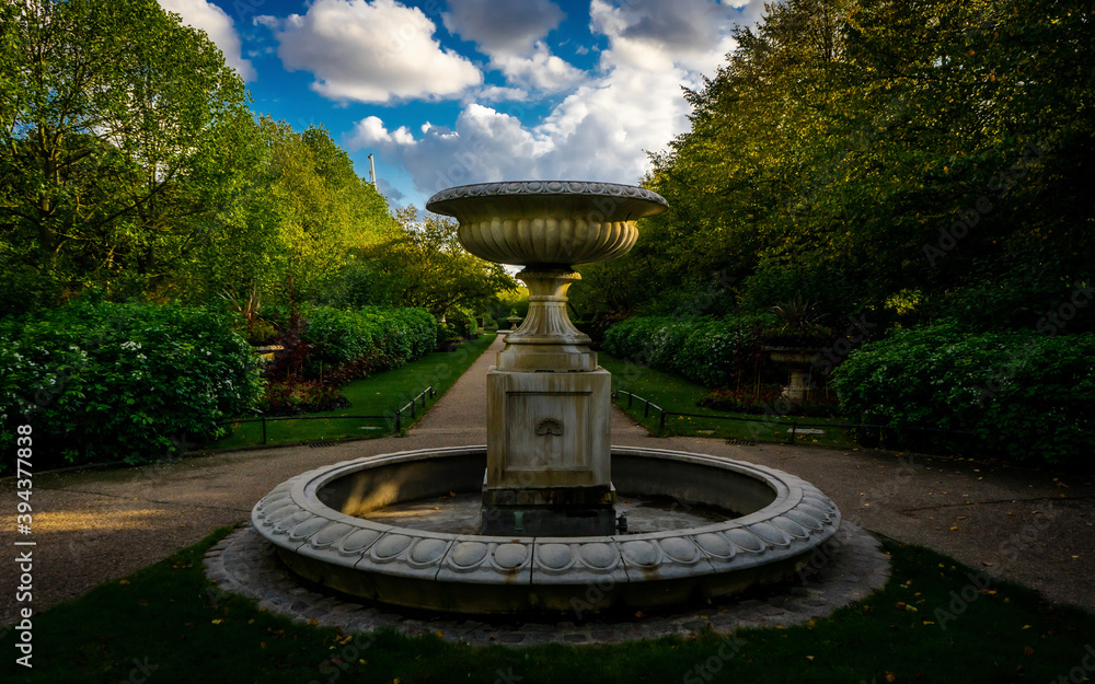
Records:
<instances>
[{"instance_id":1,"label":"clipped green hedge between the fountain pedestal and right-hand stone planter","mask_svg":"<svg viewBox=\"0 0 1095 684\"><path fill-rule=\"evenodd\" d=\"M622 359L714 387L752 370L757 332L765 322L764 316L641 316L609 328L603 347Z\"/></svg>"}]
</instances>

